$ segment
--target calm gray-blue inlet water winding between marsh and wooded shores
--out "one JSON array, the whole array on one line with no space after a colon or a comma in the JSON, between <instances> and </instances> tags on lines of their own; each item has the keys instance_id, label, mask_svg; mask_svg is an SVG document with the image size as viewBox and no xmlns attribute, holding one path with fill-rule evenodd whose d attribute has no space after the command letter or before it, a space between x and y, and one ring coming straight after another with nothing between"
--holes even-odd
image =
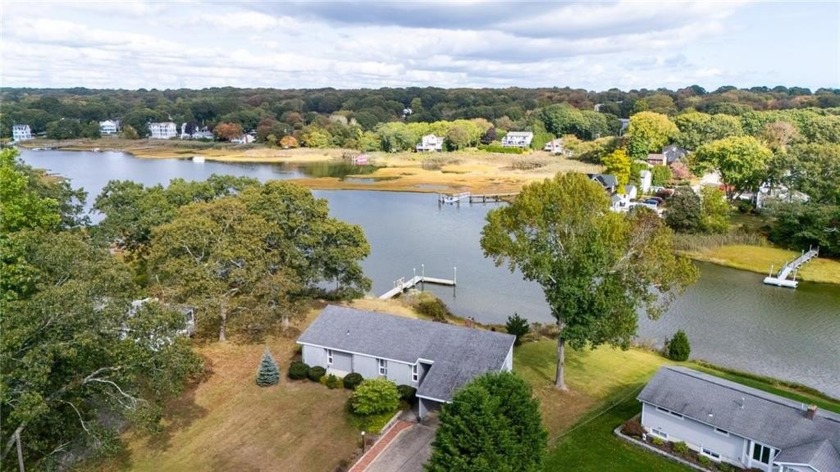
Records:
<instances>
[{"instance_id":1,"label":"calm gray-blue inlet water winding between marsh and wooded shores","mask_svg":"<svg viewBox=\"0 0 840 472\"><path fill-rule=\"evenodd\" d=\"M24 160L73 180L89 203L111 179L147 185L172 178L201 180L213 173L267 179L341 173L319 166L194 163L143 160L121 153L23 151ZM332 214L361 225L371 244L364 262L380 294L400 277L453 278L457 290L426 286L452 311L485 322L518 312L550 322L542 291L519 274L494 267L479 245L484 217L495 205L438 206L434 195L316 191ZM762 375L801 382L840 397L840 288L803 283L796 290L768 287L762 275L699 264L701 277L658 321L640 320L639 337L661 344L677 329L692 343L692 357Z\"/></svg>"}]
</instances>

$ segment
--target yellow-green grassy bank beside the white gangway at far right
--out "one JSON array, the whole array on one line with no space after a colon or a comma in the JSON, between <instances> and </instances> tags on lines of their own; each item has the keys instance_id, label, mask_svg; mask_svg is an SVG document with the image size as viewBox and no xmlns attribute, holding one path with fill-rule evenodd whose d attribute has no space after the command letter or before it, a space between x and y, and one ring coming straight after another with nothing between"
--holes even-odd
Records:
<instances>
[{"instance_id":1,"label":"yellow-green grassy bank beside the white gangway at far right","mask_svg":"<svg viewBox=\"0 0 840 472\"><path fill-rule=\"evenodd\" d=\"M779 267L800 253L774 247L750 245L728 245L696 251L684 251L684 254L706 262L766 274L770 266ZM809 282L840 284L840 261L819 257L805 264L797 274L797 279Z\"/></svg>"}]
</instances>

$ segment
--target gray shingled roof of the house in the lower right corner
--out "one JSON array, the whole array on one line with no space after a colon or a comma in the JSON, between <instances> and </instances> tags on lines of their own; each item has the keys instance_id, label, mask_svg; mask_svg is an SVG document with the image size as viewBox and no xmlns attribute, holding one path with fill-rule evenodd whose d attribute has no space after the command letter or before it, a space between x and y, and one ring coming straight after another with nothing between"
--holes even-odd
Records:
<instances>
[{"instance_id":1,"label":"gray shingled roof of the house in the lower right corner","mask_svg":"<svg viewBox=\"0 0 840 472\"><path fill-rule=\"evenodd\" d=\"M779 457L802 459L811 454L813 460L833 461L818 470L840 470L840 415L836 413L820 410L808 419L807 405L800 402L685 367L659 369L638 399L779 448ZM800 463L816 467L814 462Z\"/></svg>"}]
</instances>

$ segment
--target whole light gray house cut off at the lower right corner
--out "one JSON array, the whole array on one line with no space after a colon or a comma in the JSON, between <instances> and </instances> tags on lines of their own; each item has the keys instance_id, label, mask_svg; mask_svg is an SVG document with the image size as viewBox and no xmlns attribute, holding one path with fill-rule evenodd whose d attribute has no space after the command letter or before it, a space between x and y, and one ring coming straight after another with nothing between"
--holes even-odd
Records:
<instances>
[{"instance_id":1,"label":"whole light gray house cut off at the lower right corner","mask_svg":"<svg viewBox=\"0 0 840 472\"><path fill-rule=\"evenodd\" d=\"M768 472L840 471L840 415L685 367L638 396L642 426L714 461Z\"/></svg>"}]
</instances>

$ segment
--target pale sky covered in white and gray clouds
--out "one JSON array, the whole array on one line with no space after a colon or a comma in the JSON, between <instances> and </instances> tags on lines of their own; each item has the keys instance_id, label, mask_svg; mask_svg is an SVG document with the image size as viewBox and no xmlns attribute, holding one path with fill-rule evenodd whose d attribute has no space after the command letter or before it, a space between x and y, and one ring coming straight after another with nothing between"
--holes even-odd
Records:
<instances>
[{"instance_id":1,"label":"pale sky covered in white and gray clouds","mask_svg":"<svg viewBox=\"0 0 840 472\"><path fill-rule=\"evenodd\" d=\"M840 2L0 2L0 85L840 88Z\"/></svg>"}]
</instances>

